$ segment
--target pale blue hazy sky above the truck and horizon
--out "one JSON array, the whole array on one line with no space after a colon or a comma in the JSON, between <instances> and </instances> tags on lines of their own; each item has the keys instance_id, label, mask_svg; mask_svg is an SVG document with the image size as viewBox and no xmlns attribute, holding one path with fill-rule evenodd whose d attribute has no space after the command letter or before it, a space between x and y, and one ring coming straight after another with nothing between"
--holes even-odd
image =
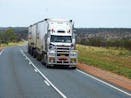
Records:
<instances>
[{"instance_id":1,"label":"pale blue hazy sky above the truck and horizon","mask_svg":"<svg viewBox=\"0 0 131 98\"><path fill-rule=\"evenodd\" d=\"M83 28L131 28L131 0L0 0L0 27L45 18L72 19Z\"/></svg>"}]
</instances>

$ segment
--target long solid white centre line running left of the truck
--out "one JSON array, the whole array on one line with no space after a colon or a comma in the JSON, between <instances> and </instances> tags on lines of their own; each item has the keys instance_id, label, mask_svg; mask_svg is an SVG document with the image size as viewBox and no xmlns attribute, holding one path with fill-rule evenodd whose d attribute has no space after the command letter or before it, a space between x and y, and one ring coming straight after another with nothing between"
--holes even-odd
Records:
<instances>
[{"instance_id":1,"label":"long solid white centre line running left of the truck","mask_svg":"<svg viewBox=\"0 0 131 98\"><path fill-rule=\"evenodd\" d=\"M34 63L26 56L22 49L20 49L22 55L31 63L31 65L38 71L38 73L63 97L67 98L35 65Z\"/></svg>"}]
</instances>

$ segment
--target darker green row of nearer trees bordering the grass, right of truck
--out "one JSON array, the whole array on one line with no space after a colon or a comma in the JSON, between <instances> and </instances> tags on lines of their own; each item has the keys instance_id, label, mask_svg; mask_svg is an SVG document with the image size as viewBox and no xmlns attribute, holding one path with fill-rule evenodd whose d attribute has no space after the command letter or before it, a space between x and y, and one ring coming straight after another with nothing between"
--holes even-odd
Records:
<instances>
[{"instance_id":1,"label":"darker green row of nearer trees bordering the grass, right of truck","mask_svg":"<svg viewBox=\"0 0 131 98\"><path fill-rule=\"evenodd\" d=\"M79 44L89 45L89 46L97 46L97 47L118 47L118 48L126 48L131 50L131 40L130 39L113 39L113 40L105 40L102 38L88 38L81 39Z\"/></svg>"}]
</instances>

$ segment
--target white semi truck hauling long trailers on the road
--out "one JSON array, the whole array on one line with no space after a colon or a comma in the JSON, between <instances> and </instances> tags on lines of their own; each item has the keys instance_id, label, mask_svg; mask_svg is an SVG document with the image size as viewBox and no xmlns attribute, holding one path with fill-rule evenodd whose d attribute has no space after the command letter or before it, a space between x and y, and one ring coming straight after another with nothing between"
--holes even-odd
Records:
<instances>
[{"instance_id":1,"label":"white semi truck hauling long trailers on the road","mask_svg":"<svg viewBox=\"0 0 131 98\"><path fill-rule=\"evenodd\" d=\"M49 66L76 68L78 52L72 20L46 18L28 27L28 52Z\"/></svg>"}]
</instances>

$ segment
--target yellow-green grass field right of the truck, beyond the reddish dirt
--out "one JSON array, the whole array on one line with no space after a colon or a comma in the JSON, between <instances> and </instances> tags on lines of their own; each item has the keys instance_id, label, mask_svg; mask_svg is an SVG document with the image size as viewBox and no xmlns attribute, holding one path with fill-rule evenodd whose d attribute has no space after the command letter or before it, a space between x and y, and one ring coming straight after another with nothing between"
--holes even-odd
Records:
<instances>
[{"instance_id":1,"label":"yellow-green grass field right of the truck, beyond the reddish dirt","mask_svg":"<svg viewBox=\"0 0 131 98\"><path fill-rule=\"evenodd\" d=\"M131 51L77 45L79 62L123 75L131 79Z\"/></svg>"}]
</instances>

